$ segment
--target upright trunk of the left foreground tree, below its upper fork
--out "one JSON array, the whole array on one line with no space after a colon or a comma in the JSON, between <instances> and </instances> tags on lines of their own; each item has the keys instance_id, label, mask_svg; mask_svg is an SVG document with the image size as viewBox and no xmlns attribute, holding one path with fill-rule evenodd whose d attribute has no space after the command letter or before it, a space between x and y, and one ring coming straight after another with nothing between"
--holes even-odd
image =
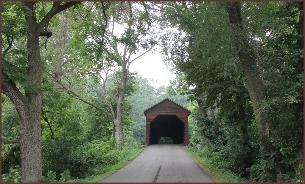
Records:
<instances>
[{"instance_id":1,"label":"upright trunk of the left foreground tree, below its upper fork","mask_svg":"<svg viewBox=\"0 0 305 184\"><path fill-rule=\"evenodd\" d=\"M36 93L27 96L30 109L27 113L20 115L20 150L21 150L21 176L22 180L28 179L34 182L41 182L42 157L41 157L41 104L43 92L41 90L42 62L39 50L39 33L34 31L28 33L27 48L29 66L27 74L30 76ZM32 36L31 36L32 34ZM30 150L30 151L29 151Z\"/></svg>"}]
</instances>

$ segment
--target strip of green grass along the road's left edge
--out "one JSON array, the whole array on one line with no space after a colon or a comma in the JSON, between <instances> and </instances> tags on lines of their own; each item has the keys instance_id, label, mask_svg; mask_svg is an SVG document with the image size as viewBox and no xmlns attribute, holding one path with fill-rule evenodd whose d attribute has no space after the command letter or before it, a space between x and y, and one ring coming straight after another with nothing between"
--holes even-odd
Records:
<instances>
[{"instance_id":1,"label":"strip of green grass along the road's left edge","mask_svg":"<svg viewBox=\"0 0 305 184\"><path fill-rule=\"evenodd\" d=\"M122 158L122 160L120 162L118 162L115 165L109 165L106 168L104 168L103 173L101 175L89 176L84 179L79 179L79 181L77 181L77 182L90 182L90 183L99 182L102 179L107 178L111 174L115 173L119 169L123 168L125 165L128 164L129 161L132 161L133 159L135 159L135 157L137 157L145 148L146 148L146 146L141 149L129 150L128 154L125 154L125 155L123 154L124 157ZM68 181L68 182L71 182L71 181Z\"/></svg>"}]
</instances>

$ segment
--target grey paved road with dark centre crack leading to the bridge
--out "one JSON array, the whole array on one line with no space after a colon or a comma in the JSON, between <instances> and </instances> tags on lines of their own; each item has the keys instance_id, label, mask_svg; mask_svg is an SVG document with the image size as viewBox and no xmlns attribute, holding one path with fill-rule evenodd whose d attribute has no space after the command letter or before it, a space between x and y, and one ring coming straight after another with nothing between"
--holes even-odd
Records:
<instances>
[{"instance_id":1,"label":"grey paved road with dark centre crack leading to the bridge","mask_svg":"<svg viewBox=\"0 0 305 184\"><path fill-rule=\"evenodd\" d=\"M100 182L214 182L181 144L153 144Z\"/></svg>"}]
</instances>

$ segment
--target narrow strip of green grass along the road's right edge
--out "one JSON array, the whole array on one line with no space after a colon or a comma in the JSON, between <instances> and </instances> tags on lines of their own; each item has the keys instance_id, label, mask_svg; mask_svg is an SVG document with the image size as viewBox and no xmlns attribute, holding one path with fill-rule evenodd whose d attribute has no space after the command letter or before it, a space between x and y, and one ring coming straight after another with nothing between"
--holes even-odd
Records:
<instances>
[{"instance_id":1,"label":"narrow strip of green grass along the road's right edge","mask_svg":"<svg viewBox=\"0 0 305 184\"><path fill-rule=\"evenodd\" d=\"M213 164L213 161L211 161L211 159L201 157L198 153L192 151L191 149L188 149L187 147L184 148L197 162L199 162L207 171L210 172L210 174L214 177L214 180L216 180L216 182L221 182L221 183L247 182L245 179L242 179L233 173L228 173L223 169L219 169L215 167L215 165L217 164L216 163Z\"/></svg>"}]
</instances>

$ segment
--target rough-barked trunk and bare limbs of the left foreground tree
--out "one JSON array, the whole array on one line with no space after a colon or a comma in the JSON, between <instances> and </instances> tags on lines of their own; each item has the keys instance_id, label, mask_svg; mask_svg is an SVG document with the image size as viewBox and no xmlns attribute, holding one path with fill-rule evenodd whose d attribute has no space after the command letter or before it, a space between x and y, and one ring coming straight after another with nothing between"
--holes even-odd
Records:
<instances>
[{"instance_id":1,"label":"rough-barked trunk and bare limbs of the left foreground tree","mask_svg":"<svg viewBox=\"0 0 305 184\"><path fill-rule=\"evenodd\" d=\"M66 2L63 5L60 5L61 2L54 2L51 10L39 23L35 17L35 3L23 2L23 5L29 10L25 13L28 25L27 49L29 50L28 60L30 63L26 74L30 77L34 91L26 92L23 96L15 82L9 80L6 74L3 74L6 76L5 79L1 79L1 88L2 93L12 100L20 116L21 179L41 182L41 103L43 92L41 90L42 62L39 37L45 36L45 34L41 34L41 31L53 16L79 2Z\"/></svg>"}]
</instances>

